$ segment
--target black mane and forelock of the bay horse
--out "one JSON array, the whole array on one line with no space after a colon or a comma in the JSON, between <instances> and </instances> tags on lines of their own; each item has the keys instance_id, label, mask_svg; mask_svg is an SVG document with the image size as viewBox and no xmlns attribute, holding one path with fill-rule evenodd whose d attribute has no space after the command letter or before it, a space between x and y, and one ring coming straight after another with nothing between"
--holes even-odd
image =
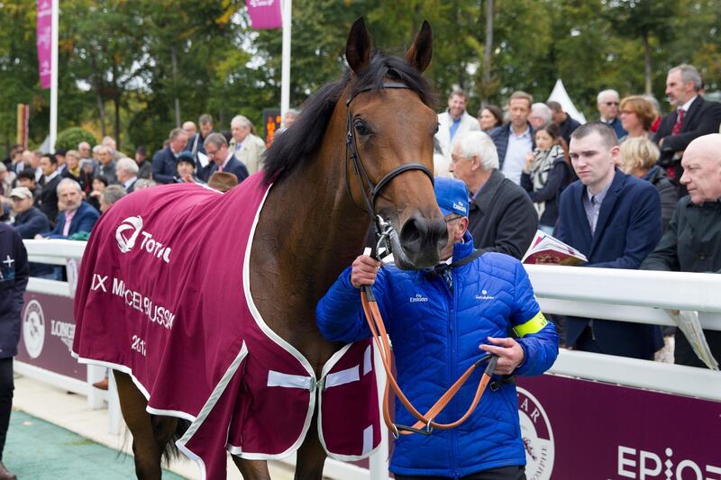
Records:
<instances>
[{"instance_id":1,"label":"black mane and forelock of the bay horse","mask_svg":"<svg viewBox=\"0 0 721 480\"><path fill-rule=\"evenodd\" d=\"M287 173L308 161L328 128L335 104L346 86L351 84L351 95L366 88L381 89L386 78L410 87L421 101L435 109L437 103L434 89L418 70L399 57L373 54L369 65L360 75L352 76L346 69L343 77L321 87L303 104L296 122L273 139L273 145L265 154L265 182L278 182Z\"/></svg>"}]
</instances>

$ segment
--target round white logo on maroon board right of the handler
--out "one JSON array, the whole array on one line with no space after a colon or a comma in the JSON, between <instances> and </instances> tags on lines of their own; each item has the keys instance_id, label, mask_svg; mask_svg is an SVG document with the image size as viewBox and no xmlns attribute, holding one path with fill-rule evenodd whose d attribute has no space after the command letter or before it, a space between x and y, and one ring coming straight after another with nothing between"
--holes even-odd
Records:
<instances>
[{"instance_id":1,"label":"round white logo on maroon board right of the handler","mask_svg":"<svg viewBox=\"0 0 721 480\"><path fill-rule=\"evenodd\" d=\"M550 480L554 456L551 422L534 395L521 387L516 390L525 447L525 475L529 480Z\"/></svg>"}]
</instances>

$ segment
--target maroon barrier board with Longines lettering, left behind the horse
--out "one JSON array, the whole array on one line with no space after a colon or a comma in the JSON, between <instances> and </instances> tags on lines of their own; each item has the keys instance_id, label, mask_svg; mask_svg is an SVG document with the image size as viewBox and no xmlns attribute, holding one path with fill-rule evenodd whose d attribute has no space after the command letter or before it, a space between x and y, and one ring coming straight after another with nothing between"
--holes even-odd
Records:
<instances>
[{"instance_id":1,"label":"maroon barrier board with Longines lettering, left behind the horse","mask_svg":"<svg viewBox=\"0 0 721 480\"><path fill-rule=\"evenodd\" d=\"M25 293L20 325L19 361L78 380L87 367L70 355L75 336L73 300L67 296Z\"/></svg>"}]
</instances>

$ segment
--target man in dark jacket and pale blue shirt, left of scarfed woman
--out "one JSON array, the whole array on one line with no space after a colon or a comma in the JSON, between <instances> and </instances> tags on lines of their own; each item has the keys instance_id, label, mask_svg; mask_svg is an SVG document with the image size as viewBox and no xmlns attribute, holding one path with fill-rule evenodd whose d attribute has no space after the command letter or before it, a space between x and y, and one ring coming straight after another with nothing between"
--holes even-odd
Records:
<instances>
[{"instance_id":1,"label":"man in dark jacket and pale blue shirt, left of scarfed woman","mask_svg":"<svg viewBox=\"0 0 721 480\"><path fill-rule=\"evenodd\" d=\"M498 152L498 168L516 185L521 185L525 157L535 149L534 128L528 122L533 103L533 96L521 91L514 92L508 100L511 121L490 131L490 138Z\"/></svg>"}]
</instances>

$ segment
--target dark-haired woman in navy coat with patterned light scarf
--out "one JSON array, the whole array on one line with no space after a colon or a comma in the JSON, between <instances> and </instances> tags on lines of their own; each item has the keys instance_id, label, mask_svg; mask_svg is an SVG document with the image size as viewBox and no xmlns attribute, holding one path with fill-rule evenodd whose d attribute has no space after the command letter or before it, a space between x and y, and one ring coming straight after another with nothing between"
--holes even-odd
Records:
<instances>
[{"instance_id":1,"label":"dark-haired woman in navy coat with patterned light scarf","mask_svg":"<svg viewBox=\"0 0 721 480\"><path fill-rule=\"evenodd\" d=\"M561 192L570 184L569 158L561 129L546 123L535 131L536 149L525 158L521 186L525 188L538 211L538 228L548 234L558 221Z\"/></svg>"}]
</instances>

